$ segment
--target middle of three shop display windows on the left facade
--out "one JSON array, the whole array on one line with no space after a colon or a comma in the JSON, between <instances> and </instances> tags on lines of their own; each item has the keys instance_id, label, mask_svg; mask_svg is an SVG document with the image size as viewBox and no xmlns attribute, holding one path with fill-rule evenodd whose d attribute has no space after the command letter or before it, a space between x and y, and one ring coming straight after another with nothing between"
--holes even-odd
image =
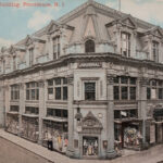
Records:
<instances>
[{"instance_id":1,"label":"middle of three shop display windows on the left facade","mask_svg":"<svg viewBox=\"0 0 163 163\"><path fill-rule=\"evenodd\" d=\"M38 135L38 115L24 114L22 117L22 137L37 142Z\"/></svg>"}]
</instances>

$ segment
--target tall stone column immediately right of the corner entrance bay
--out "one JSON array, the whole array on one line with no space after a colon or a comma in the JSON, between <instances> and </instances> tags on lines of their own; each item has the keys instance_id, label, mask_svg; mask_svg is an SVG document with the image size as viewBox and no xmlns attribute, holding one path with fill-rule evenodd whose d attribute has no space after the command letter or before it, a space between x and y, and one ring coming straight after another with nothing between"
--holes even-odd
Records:
<instances>
[{"instance_id":1,"label":"tall stone column immediately right of the corner entrance bay","mask_svg":"<svg viewBox=\"0 0 163 163\"><path fill-rule=\"evenodd\" d=\"M108 134L108 151L106 159L116 156L114 150L114 102L113 102L113 76L109 75L108 79L108 109L106 109L106 134Z\"/></svg>"}]
</instances>

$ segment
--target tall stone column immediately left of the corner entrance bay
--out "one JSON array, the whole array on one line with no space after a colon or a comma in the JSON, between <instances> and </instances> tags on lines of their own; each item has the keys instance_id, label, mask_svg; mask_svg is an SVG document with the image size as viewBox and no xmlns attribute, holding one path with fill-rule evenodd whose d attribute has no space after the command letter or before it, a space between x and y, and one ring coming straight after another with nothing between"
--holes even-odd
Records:
<instances>
[{"instance_id":1,"label":"tall stone column immediately left of the corner entrance bay","mask_svg":"<svg viewBox=\"0 0 163 163\"><path fill-rule=\"evenodd\" d=\"M70 76L68 80L68 101L67 101L67 110L68 110L68 147L66 151L66 155L70 158L74 158L74 78Z\"/></svg>"}]
</instances>

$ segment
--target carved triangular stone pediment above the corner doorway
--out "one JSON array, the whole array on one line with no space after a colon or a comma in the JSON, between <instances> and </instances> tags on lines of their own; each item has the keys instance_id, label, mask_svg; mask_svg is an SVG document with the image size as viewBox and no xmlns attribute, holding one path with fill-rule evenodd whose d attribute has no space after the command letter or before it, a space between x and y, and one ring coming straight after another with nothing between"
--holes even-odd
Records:
<instances>
[{"instance_id":1,"label":"carved triangular stone pediment above the corner doorway","mask_svg":"<svg viewBox=\"0 0 163 163\"><path fill-rule=\"evenodd\" d=\"M100 134L102 128L101 122L91 112L82 121L82 133L84 134Z\"/></svg>"}]
</instances>

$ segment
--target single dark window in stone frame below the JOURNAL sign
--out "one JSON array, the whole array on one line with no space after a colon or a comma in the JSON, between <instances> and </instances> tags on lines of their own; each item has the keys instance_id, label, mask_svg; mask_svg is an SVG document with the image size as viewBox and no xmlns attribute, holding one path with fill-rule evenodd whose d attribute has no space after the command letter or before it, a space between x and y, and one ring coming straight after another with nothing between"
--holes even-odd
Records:
<instances>
[{"instance_id":1,"label":"single dark window in stone frame below the JOURNAL sign","mask_svg":"<svg viewBox=\"0 0 163 163\"><path fill-rule=\"evenodd\" d=\"M96 83L85 83L85 100L96 100Z\"/></svg>"}]
</instances>

